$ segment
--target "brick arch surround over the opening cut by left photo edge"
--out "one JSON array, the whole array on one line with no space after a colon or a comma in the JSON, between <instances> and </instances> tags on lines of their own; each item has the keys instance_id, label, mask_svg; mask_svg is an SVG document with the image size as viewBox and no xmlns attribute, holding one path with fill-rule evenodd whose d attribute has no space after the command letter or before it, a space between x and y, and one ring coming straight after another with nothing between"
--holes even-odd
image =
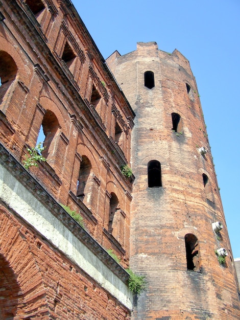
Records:
<instances>
[{"instance_id":1,"label":"brick arch surround over the opening cut by left photo edge","mask_svg":"<svg viewBox=\"0 0 240 320\"><path fill-rule=\"evenodd\" d=\"M16 79L23 82L27 87L30 85L30 81L33 75L33 68L32 70L27 70L25 60L18 50L5 38L0 35L0 51L7 52L15 61L17 65L17 76Z\"/></svg>"}]
</instances>

